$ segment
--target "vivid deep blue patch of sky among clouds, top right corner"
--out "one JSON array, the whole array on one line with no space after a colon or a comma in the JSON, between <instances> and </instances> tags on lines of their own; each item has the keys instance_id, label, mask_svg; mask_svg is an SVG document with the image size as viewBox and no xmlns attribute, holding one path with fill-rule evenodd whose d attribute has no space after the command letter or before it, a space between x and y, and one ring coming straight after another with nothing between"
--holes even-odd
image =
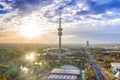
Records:
<instances>
[{"instance_id":1,"label":"vivid deep blue patch of sky among clouds, top right corner","mask_svg":"<svg viewBox=\"0 0 120 80\"><path fill-rule=\"evenodd\" d=\"M108 1L90 1L87 0L86 4L89 7L89 10L82 10L78 12L78 15L82 14L101 14L105 13L106 10L111 10L111 9L119 9L120 8L120 1L119 0L108 0Z\"/></svg>"}]
</instances>

